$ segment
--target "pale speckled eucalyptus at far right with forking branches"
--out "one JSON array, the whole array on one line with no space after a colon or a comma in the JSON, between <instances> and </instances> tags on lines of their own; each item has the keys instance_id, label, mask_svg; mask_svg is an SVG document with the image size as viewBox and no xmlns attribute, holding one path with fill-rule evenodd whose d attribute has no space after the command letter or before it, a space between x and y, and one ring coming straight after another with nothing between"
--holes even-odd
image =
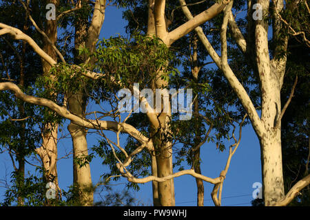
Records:
<instances>
[{"instance_id":1,"label":"pale speckled eucalyptus at far right with forking branches","mask_svg":"<svg viewBox=\"0 0 310 220\"><path fill-rule=\"evenodd\" d=\"M180 0L182 5L185 1ZM204 43L206 50L214 62L229 81L243 107L247 111L251 124L260 140L262 157L262 180L265 206L284 206L289 203L298 191L309 185L310 175L307 175L285 195L282 172L282 145L281 145L281 119L287 105L291 101L296 85L292 85L291 96L281 109L280 90L285 77L287 64L287 42L290 36L301 36L301 41L307 40L307 28L302 24L304 20L289 24L283 17L285 14L298 12L309 13L307 1L248 1L247 3L247 34L242 33L234 15L231 12L234 1L230 1L224 10L223 23L220 29L221 56L218 56L205 34L200 28L196 32ZM308 10L307 10L308 8ZM187 19L192 20L192 14L185 5L183 7ZM282 17L283 16L283 17ZM287 17L287 19L292 19ZM269 21L271 21L272 41L268 39ZM288 20L289 21L289 20ZM296 25L296 24L299 25ZM258 78L261 94L261 115L258 115L247 91L231 70L227 56L227 27L239 49L249 57L249 62ZM297 28L296 28L297 27ZM297 32L298 30L299 32ZM300 37L298 36L298 37ZM270 53L269 53L270 52Z\"/></svg>"}]
</instances>

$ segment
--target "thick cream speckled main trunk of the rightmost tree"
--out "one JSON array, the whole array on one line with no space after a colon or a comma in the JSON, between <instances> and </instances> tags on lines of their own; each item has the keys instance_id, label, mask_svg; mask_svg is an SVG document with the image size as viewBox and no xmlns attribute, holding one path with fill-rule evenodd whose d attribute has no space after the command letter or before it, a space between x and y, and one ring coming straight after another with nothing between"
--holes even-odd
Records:
<instances>
[{"instance_id":1,"label":"thick cream speckled main trunk of the rightmost tree","mask_svg":"<svg viewBox=\"0 0 310 220\"><path fill-rule=\"evenodd\" d=\"M258 1L262 5L263 12L269 11L269 1ZM261 121L265 126L265 132L258 135L261 148L262 181L265 206L273 206L285 196L282 173L282 148L281 148L281 102L280 91L285 75L287 36L280 33L280 19L276 11L280 12L284 7L283 1L273 1L273 41L277 46L273 52L273 59L269 58L268 46L268 22L265 19L256 23L256 60L258 74L261 83L262 115ZM279 45L281 43L281 45Z\"/></svg>"}]
</instances>

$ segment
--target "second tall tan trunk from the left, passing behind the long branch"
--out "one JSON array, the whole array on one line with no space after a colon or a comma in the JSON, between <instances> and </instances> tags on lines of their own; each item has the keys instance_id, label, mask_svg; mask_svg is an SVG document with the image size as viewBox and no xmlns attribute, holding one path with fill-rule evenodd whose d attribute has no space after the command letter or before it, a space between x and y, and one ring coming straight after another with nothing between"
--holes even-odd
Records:
<instances>
[{"instance_id":1,"label":"second tall tan trunk from the left, passing behind the long branch","mask_svg":"<svg viewBox=\"0 0 310 220\"><path fill-rule=\"evenodd\" d=\"M83 0L85 1L85 0ZM86 3L87 1L85 1ZM87 57L79 56L79 47L86 47L91 53L95 50L96 42L98 41L99 34L105 19L105 0L97 0L94 6L94 13L92 16L92 22L90 23L90 28L87 30L88 20L79 20L75 25L75 39L74 47L76 54L74 56L74 63L80 64L87 62L92 65L93 61L88 60ZM79 115L85 118L85 108L86 102L83 96L83 88L81 88L77 94L69 94L68 104L69 109L75 115ZM73 157L79 158L81 156L87 156L87 131L75 124L70 123L68 126L70 131L72 142L73 142ZM92 206L94 200L94 191L92 190L92 177L90 173L90 164L85 166L79 166L79 164L73 164L74 170L74 185L79 187L80 192L80 203L83 206Z\"/></svg>"}]
</instances>

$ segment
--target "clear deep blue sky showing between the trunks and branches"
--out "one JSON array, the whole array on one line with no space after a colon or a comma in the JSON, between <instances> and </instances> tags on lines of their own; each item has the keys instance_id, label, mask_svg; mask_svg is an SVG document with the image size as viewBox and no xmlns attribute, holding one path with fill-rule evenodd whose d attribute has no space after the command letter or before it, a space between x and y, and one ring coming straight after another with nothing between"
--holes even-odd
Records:
<instances>
[{"instance_id":1,"label":"clear deep blue sky showing between the trunks and branches","mask_svg":"<svg viewBox=\"0 0 310 220\"><path fill-rule=\"evenodd\" d=\"M103 30L101 30L101 38L109 38L116 34L125 35L125 21L122 19L121 10L115 7L107 7L105 12L105 21ZM66 131L66 125L64 126ZM88 146L92 147L96 144L99 136L88 135ZM227 147L229 144L226 145ZM59 157L63 157L66 152L71 151L72 142L70 136L61 140L59 143ZM201 169L203 175L208 177L218 177L221 170L225 168L228 157L228 151L223 153L216 150L215 144L204 144L201 148L202 164ZM107 167L101 164L102 159L95 158L91 163L92 179L96 183L99 181L100 175L107 172ZM68 190L68 186L72 184L72 158L59 160L59 184L64 190ZM0 154L0 179L6 178L6 172L10 177L12 164L8 155ZM28 169L31 169L27 166ZM122 178L120 183L127 180ZM227 173L223 185L223 206L251 206L252 192L254 182L261 182L260 168L260 146L258 139L251 125L242 129L242 140L240 146L231 160L231 165ZM194 177L185 175L174 179L176 206L196 206L196 181ZM214 206L211 201L211 190L214 185L205 183L205 206ZM112 186L115 190L122 190L124 184ZM3 199L5 188L0 187L0 200ZM45 192L43 192L45 193ZM132 192L134 197L141 201L144 205L152 205L152 184L141 184L141 190Z\"/></svg>"}]
</instances>

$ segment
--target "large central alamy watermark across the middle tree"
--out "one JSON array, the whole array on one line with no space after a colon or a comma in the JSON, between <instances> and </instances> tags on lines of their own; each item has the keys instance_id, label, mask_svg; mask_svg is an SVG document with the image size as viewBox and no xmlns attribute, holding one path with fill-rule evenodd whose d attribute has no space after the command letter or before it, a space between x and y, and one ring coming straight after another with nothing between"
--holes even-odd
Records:
<instances>
[{"instance_id":1,"label":"large central alamy watermark across the middle tree","mask_svg":"<svg viewBox=\"0 0 310 220\"><path fill-rule=\"evenodd\" d=\"M139 90L139 84L134 83L134 94L130 89L121 89L117 96L121 100L118 102L118 111L120 113L180 113L179 120L190 120L192 118L192 89L156 89L155 99L156 107L154 108L154 93L152 89ZM169 98L171 95L171 106ZM133 103L132 103L133 102ZM186 102L186 107L185 107Z\"/></svg>"}]
</instances>

